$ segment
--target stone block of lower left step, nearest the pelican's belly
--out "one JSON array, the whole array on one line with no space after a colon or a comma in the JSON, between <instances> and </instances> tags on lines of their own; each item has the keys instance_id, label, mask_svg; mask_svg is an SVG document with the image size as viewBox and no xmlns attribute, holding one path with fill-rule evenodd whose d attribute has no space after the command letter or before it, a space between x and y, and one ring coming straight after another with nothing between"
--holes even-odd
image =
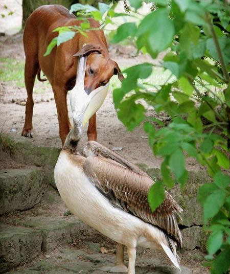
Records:
<instances>
[{"instance_id":1,"label":"stone block of lower left step, nearest the pelican's belly","mask_svg":"<svg viewBox=\"0 0 230 274\"><path fill-rule=\"evenodd\" d=\"M81 232L88 229L86 224L75 217L30 217L29 220L19 220L17 223L41 232L42 251L45 252L75 242Z\"/></svg>"}]
</instances>

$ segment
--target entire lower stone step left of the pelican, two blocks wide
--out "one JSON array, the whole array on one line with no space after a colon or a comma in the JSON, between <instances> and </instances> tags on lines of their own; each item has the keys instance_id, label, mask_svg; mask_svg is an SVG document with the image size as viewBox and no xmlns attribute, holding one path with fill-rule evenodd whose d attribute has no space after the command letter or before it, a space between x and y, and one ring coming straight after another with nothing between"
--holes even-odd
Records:
<instances>
[{"instance_id":1,"label":"entire lower stone step left of the pelican, two blocks wide","mask_svg":"<svg viewBox=\"0 0 230 274\"><path fill-rule=\"evenodd\" d=\"M74 243L82 233L90 234L91 230L74 216L24 216L13 223L7 221L9 224L0 226L0 273L31 262L41 252Z\"/></svg>"}]
</instances>

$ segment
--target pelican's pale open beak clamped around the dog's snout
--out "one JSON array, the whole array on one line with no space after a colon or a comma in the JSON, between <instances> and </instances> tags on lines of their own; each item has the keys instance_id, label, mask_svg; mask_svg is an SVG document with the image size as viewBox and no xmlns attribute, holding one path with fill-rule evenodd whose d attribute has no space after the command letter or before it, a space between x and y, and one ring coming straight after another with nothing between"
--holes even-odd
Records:
<instances>
[{"instance_id":1,"label":"pelican's pale open beak clamped around the dog's snout","mask_svg":"<svg viewBox=\"0 0 230 274\"><path fill-rule=\"evenodd\" d=\"M89 95L84 90L87 56L79 57L75 87L71 90L70 103L74 127L82 134L83 127L103 104L108 93L109 83L94 89Z\"/></svg>"}]
</instances>

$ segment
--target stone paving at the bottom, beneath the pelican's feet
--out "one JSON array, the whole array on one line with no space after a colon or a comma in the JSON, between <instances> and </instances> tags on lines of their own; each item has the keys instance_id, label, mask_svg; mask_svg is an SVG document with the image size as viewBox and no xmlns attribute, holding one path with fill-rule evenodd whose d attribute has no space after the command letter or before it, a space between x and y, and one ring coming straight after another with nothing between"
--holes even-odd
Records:
<instances>
[{"instance_id":1,"label":"stone paving at the bottom, beneath the pelican's feet","mask_svg":"<svg viewBox=\"0 0 230 274\"><path fill-rule=\"evenodd\" d=\"M105 274L107 272L101 269L105 265L112 266L114 263L114 254L102 254L86 248L77 249L71 246L62 246L54 250L53 253L37 258L29 267L22 267L8 274ZM157 254L149 253L136 256L135 273L136 274L192 274L192 270L181 265L181 271L176 269L165 255L161 255L162 260L156 258ZM128 264L128 257L125 256L125 263ZM197 272L201 273L201 272ZM202 272L204 273L204 272Z\"/></svg>"}]
</instances>

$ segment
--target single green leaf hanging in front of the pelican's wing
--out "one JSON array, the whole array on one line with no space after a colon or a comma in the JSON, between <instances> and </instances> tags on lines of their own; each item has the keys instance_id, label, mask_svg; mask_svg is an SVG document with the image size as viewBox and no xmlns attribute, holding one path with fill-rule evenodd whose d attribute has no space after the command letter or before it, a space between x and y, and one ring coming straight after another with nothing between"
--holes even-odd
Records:
<instances>
[{"instance_id":1,"label":"single green leaf hanging in front of the pelican's wing","mask_svg":"<svg viewBox=\"0 0 230 274\"><path fill-rule=\"evenodd\" d=\"M148 193L148 202L152 212L157 209L157 207L164 201L164 199L165 190L162 181L157 181L152 185Z\"/></svg>"}]
</instances>

